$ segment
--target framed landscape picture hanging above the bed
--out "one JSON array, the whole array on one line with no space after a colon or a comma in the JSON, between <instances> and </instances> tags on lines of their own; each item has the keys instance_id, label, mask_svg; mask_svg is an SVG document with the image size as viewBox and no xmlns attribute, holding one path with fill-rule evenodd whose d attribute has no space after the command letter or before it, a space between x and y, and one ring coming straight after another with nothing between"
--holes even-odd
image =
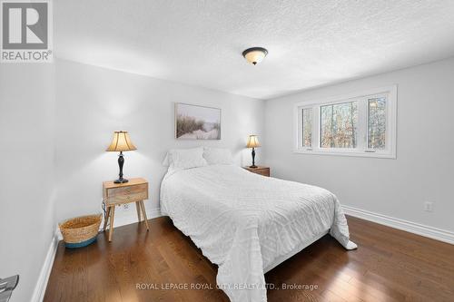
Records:
<instances>
[{"instance_id":1,"label":"framed landscape picture hanging above the bed","mask_svg":"<svg viewBox=\"0 0 454 302\"><path fill-rule=\"evenodd\" d=\"M221 109L175 103L177 140L221 140Z\"/></svg>"}]
</instances>

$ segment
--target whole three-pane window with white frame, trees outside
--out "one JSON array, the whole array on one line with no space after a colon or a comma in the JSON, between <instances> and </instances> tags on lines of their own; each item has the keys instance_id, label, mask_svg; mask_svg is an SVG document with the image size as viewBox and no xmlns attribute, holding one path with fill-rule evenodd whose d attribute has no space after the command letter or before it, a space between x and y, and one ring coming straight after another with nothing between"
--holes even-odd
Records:
<instances>
[{"instance_id":1,"label":"whole three-pane window with white frame, trees outside","mask_svg":"<svg viewBox=\"0 0 454 302\"><path fill-rule=\"evenodd\" d=\"M295 105L296 152L396 158L397 86Z\"/></svg>"}]
</instances>

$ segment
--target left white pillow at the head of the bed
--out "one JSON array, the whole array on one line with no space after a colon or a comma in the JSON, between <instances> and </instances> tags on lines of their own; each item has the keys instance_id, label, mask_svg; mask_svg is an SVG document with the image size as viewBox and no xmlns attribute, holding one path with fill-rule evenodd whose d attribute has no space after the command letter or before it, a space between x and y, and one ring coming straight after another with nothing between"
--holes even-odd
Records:
<instances>
[{"instance_id":1,"label":"left white pillow at the head of the bed","mask_svg":"<svg viewBox=\"0 0 454 302\"><path fill-rule=\"evenodd\" d=\"M207 165L203 159L203 148L173 149L167 152L163 164L171 169L190 169Z\"/></svg>"}]
</instances>

